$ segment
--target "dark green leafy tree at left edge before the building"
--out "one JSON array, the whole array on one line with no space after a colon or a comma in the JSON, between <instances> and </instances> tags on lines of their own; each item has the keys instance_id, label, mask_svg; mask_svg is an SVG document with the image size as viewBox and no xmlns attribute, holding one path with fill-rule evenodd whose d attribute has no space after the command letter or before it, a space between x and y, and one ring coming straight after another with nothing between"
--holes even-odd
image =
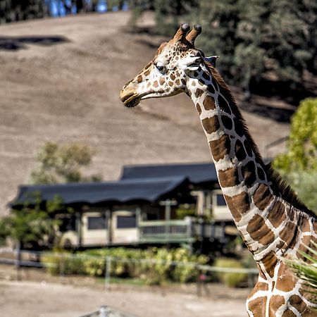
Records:
<instances>
[{"instance_id":1,"label":"dark green leafy tree at left edge before the building","mask_svg":"<svg viewBox=\"0 0 317 317\"><path fill-rule=\"evenodd\" d=\"M65 210L66 207L60 197L42 203L39 193L30 197L31 203L26 203L22 208L13 206L11 214L0 220L0 242L4 244L6 238L11 238L21 249L38 249L44 245L56 242L56 228L60 224L54 218L56 212ZM71 212L71 209L67 209Z\"/></svg>"}]
</instances>

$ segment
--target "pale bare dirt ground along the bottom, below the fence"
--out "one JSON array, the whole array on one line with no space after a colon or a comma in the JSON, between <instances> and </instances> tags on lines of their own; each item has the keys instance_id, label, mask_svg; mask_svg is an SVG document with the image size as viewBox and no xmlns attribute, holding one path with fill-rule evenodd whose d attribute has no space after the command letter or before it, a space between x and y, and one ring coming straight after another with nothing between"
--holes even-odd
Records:
<instances>
[{"instance_id":1,"label":"pale bare dirt ground along the bottom, below the fence","mask_svg":"<svg viewBox=\"0 0 317 317\"><path fill-rule=\"evenodd\" d=\"M27 270L21 274L23 281L15 282L8 278L12 274L13 267L1 266L0 307L4 317L77 317L96 311L101 305L139 317L247 316L246 289L212 284L210 294L203 297L197 297L194 285L112 285L108 292L92 278L54 278Z\"/></svg>"}]
</instances>

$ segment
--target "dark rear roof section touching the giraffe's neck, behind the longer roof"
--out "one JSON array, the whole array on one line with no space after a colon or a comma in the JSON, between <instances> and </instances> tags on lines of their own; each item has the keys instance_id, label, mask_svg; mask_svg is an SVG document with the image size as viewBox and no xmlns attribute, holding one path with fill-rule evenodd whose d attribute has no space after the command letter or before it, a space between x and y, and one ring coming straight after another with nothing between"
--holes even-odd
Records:
<instances>
[{"instance_id":1,"label":"dark rear roof section touching the giraffe's neck, behind the longer roof","mask_svg":"<svg viewBox=\"0 0 317 317\"><path fill-rule=\"evenodd\" d=\"M182 176L192 184L218 182L213 163L124 166L121 180Z\"/></svg>"}]
</instances>

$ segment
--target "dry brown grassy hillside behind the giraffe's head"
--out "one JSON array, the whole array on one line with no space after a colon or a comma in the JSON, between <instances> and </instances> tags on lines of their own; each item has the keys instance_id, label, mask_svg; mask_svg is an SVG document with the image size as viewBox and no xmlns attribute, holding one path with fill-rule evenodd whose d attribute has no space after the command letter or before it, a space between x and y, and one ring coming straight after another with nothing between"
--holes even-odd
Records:
<instances>
[{"instance_id":1,"label":"dry brown grassy hillside behind the giraffe's head","mask_svg":"<svg viewBox=\"0 0 317 317\"><path fill-rule=\"evenodd\" d=\"M28 181L35 152L46 141L91 144L97 155L90 172L102 173L105 180L118 178L125 164L210 160L199 118L185 95L144 101L132 110L120 103L120 88L162 41L130 32L129 15L78 15L0 27L0 214L18 185ZM152 23L151 15L140 21ZM287 135L288 123L243 113L260 151Z\"/></svg>"}]
</instances>

